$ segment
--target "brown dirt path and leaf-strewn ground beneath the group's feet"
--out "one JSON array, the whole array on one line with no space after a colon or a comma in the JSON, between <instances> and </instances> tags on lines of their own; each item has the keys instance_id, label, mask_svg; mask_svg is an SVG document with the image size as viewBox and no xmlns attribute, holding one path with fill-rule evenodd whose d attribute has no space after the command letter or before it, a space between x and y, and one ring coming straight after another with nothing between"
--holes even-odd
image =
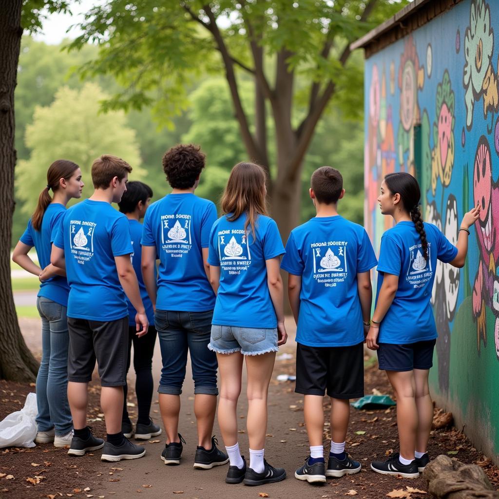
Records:
<instances>
[{"instance_id":1,"label":"brown dirt path and leaf-strewn ground beneath the group's feet","mask_svg":"<svg viewBox=\"0 0 499 499\"><path fill-rule=\"evenodd\" d=\"M35 327L32 334L36 334ZM355 491L358 498L381 499L393 489L401 489L406 485L427 490L423 479L400 480L384 477L373 473L369 469L372 459L383 459L386 455L397 450L397 428L395 409L376 411L356 411L351 409L351 424L347 436L347 450L352 457L362 463L363 470L357 475L342 479L328 480L324 486L311 486L294 478L294 470L303 463L308 454L306 431L303 422L303 397L294 393L294 383L278 382L278 374L294 374L294 328L288 321L290 339L278 355L291 354L292 358L277 360L273 379L269 390L269 418L265 456L271 464L283 466L287 471L287 479L278 484L250 488L243 485L227 485L224 482L227 466L209 471L194 470L194 454L196 451L196 429L193 416L193 383L188 369L181 409L180 432L187 441L184 446L183 461L178 467L164 466L160 454L164 446L164 435L156 437L154 441L145 443L147 454L136 461L122 461L120 463L102 463L99 453L84 458L68 458L63 450L56 450L50 445L37 446L33 449L9 450L0 454L0 472L11 474L13 480L0 478L0 495L4 489L5 497L9 498L39 498L55 499L56 497L73 498L190 498L190 499L220 499L220 498L258 498L259 493L268 494L269 498L334 498L347 495ZM29 336L29 333L27 333ZM28 341L30 343L30 341ZM383 372L370 362L366 368L365 393L372 393L377 389L382 393L391 393ZM161 360L157 345L153 370L155 384L159 380ZM130 376L130 385L133 386L133 373ZM15 385L0 382L0 419L8 412L17 410L24 401L25 393L34 391L26 385ZM244 393L244 392L243 392ZM95 433L103 436L105 433L102 414L98 405L99 387L93 384L90 403L90 418ZM238 409L240 415L240 446L243 454L248 456L248 437L246 434L247 404L242 397ZM151 416L161 423L157 396L153 397ZM129 397L133 403L133 394ZM328 410L327 399L324 399L324 409ZM134 407L129 407L132 412ZM358 435L355 432L365 432ZM214 433L219 436L216 426ZM325 445L329 441L329 432L324 432ZM221 440L221 439L220 439ZM328 447L326 448L328 450ZM484 466L491 481L499 486L499 471L490 465L490 461L483 457L470 442L456 430L439 430L432 433L429 451L432 457L447 452L458 452L455 457L463 462L478 462ZM1 452L1 451L0 451ZM31 463L39 464L31 467ZM47 464L48 463L48 464ZM26 478L43 476L39 484L31 485ZM89 490L85 491L85 488ZM422 498L423 495L413 494L413 498ZM428 496L426 496L428 497Z\"/></svg>"}]
</instances>

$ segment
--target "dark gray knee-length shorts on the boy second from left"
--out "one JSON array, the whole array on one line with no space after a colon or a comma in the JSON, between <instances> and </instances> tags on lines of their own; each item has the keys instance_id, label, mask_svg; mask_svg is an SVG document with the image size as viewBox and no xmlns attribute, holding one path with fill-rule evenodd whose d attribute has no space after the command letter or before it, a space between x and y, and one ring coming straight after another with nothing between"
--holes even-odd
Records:
<instances>
[{"instance_id":1,"label":"dark gray knee-length shorts on the boy second from left","mask_svg":"<svg viewBox=\"0 0 499 499\"><path fill-rule=\"evenodd\" d=\"M128 315L109 322L68 317L67 325L68 381L91 381L97 360L101 386L124 386L128 358Z\"/></svg>"}]
</instances>

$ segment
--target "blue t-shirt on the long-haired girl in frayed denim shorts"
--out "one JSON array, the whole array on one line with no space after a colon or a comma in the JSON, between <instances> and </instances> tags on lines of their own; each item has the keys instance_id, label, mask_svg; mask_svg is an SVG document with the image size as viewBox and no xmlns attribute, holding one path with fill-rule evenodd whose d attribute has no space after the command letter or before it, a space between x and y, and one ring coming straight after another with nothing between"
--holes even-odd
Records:
<instances>
[{"instance_id":1,"label":"blue t-shirt on the long-haired girl in frayed denim shorts","mask_svg":"<svg viewBox=\"0 0 499 499\"><path fill-rule=\"evenodd\" d=\"M230 215L228 215L230 216ZM240 327L277 326L267 285L265 260L283 254L276 223L258 215L255 238L246 214L234 222L227 215L213 225L208 263L220 266L220 287L213 311L213 324Z\"/></svg>"}]
</instances>

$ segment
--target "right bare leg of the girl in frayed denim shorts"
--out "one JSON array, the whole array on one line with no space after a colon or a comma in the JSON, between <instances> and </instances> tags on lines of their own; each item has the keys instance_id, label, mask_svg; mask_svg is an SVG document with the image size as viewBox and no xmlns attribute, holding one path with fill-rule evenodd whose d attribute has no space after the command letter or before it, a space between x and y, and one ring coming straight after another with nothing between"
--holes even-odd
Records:
<instances>
[{"instance_id":1,"label":"right bare leg of the girl in frayed denim shorts","mask_svg":"<svg viewBox=\"0 0 499 499\"><path fill-rule=\"evenodd\" d=\"M275 352L247 355L245 360L248 373L248 438L250 449L259 450L265 446L268 383L272 376Z\"/></svg>"}]
</instances>

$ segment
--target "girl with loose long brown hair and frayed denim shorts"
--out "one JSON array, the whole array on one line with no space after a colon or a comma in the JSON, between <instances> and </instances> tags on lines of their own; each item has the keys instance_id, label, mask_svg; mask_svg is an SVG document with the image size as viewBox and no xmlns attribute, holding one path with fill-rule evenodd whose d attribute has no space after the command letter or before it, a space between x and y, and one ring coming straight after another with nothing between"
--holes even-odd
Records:
<instances>
[{"instance_id":1,"label":"girl with loose long brown hair and frayed denim shorts","mask_svg":"<svg viewBox=\"0 0 499 499\"><path fill-rule=\"evenodd\" d=\"M286 478L263 459L267 392L278 346L286 342L283 286L279 272L284 247L267 217L265 172L239 163L222 197L224 215L210 236L208 263L217 293L208 348L217 352L221 377L218 421L230 464L226 482L262 485ZM238 444L237 403L243 359L248 373L250 467Z\"/></svg>"}]
</instances>

